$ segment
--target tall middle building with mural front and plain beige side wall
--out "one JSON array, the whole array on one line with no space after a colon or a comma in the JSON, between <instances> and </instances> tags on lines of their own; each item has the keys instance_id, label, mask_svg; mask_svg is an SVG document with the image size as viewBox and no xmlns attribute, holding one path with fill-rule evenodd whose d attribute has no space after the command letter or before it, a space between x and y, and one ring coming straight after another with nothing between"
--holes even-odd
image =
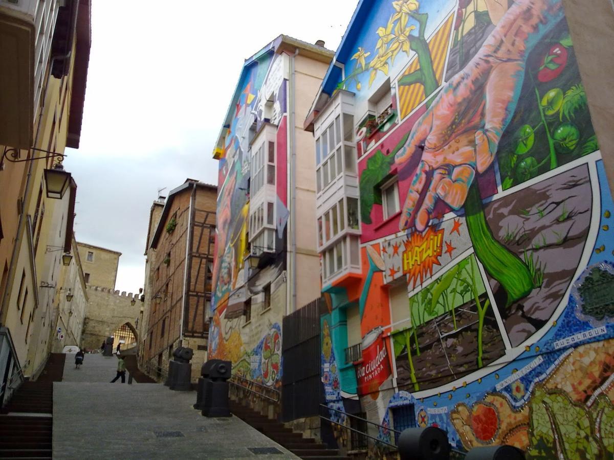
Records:
<instances>
[{"instance_id":1,"label":"tall middle building with mural front and plain beige side wall","mask_svg":"<svg viewBox=\"0 0 614 460\"><path fill-rule=\"evenodd\" d=\"M319 293L315 163L301 125L332 55L282 35L246 59L214 150L209 358L273 388L281 387L282 318Z\"/></svg>"}]
</instances>

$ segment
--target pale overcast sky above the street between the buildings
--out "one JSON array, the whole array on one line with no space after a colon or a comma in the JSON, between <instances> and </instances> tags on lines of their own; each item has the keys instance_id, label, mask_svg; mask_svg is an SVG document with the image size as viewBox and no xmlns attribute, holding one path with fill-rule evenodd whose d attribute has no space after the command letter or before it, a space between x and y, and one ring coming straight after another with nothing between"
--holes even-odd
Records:
<instances>
[{"instance_id":1,"label":"pale overcast sky above the street between the buildings","mask_svg":"<svg viewBox=\"0 0 614 460\"><path fill-rule=\"evenodd\" d=\"M244 59L279 34L336 50L357 0L92 3L80 147L64 165L77 241L121 251L115 289L136 292L157 190L217 183L212 146Z\"/></svg>"}]
</instances>

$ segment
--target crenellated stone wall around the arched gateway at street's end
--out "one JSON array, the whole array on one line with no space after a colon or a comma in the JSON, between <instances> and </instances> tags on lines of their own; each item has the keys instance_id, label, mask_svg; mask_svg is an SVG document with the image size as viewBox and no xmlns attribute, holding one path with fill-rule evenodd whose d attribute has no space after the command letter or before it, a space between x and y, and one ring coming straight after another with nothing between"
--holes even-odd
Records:
<instances>
[{"instance_id":1,"label":"crenellated stone wall around the arched gateway at street's end","mask_svg":"<svg viewBox=\"0 0 614 460\"><path fill-rule=\"evenodd\" d=\"M87 285L87 296L82 347L100 348L103 340L112 335L122 324L128 323L134 328L134 322L141 310L138 294L126 294L126 291L120 293L109 288ZM136 299L136 303L130 305L133 298ZM133 332L136 335L136 331ZM136 339L138 343L139 337Z\"/></svg>"}]
</instances>

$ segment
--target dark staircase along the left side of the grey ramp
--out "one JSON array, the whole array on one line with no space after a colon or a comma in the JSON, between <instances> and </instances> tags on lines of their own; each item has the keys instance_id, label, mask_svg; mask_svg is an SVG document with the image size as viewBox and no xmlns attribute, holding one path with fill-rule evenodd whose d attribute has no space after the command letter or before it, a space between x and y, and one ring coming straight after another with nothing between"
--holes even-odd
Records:
<instances>
[{"instance_id":1,"label":"dark staircase along the left side of the grey ramp","mask_svg":"<svg viewBox=\"0 0 614 460\"><path fill-rule=\"evenodd\" d=\"M0 415L0 459L52 458L53 382L64 373L63 353L52 353L37 381L25 381Z\"/></svg>"}]
</instances>

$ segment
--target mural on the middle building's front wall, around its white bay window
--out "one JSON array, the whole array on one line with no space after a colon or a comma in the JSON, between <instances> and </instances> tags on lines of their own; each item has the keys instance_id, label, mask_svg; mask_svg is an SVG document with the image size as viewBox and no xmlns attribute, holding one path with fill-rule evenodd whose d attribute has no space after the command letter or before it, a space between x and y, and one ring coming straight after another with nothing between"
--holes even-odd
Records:
<instances>
[{"instance_id":1,"label":"mural on the middle building's front wall, around its white bay window","mask_svg":"<svg viewBox=\"0 0 614 460\"><path fill-rule=\"evenodd\" d=\"M278 141L273 153L275 158L268 152L268 161L279 165L273 178L276 247L284 246L286 235L288 212L283 165L286 164L287 75L284 74L284 55L274 52L277 45L271 42L246 60L220 134L223 146L218 145L215 152L219 160L219 214L208 347L209 358L230 360L233 372L268 386L281 385L282 337L281 327L276 322L281 320L281 315L273 318L278 312L271 312L261 317L258 310L253 313L258 320L243 331L242 328L246 322L248 299L263 296L263 286L271 283L276 286L271 293L284 290L276 282L284 270L282 255L274 254L271 264L256 274L246 262L250 253L251 140L265 123L276 125ZM267 180L271 183L271 178ZM273 216L265 215L269 217Z\"/></svg>"}]
</instances>

